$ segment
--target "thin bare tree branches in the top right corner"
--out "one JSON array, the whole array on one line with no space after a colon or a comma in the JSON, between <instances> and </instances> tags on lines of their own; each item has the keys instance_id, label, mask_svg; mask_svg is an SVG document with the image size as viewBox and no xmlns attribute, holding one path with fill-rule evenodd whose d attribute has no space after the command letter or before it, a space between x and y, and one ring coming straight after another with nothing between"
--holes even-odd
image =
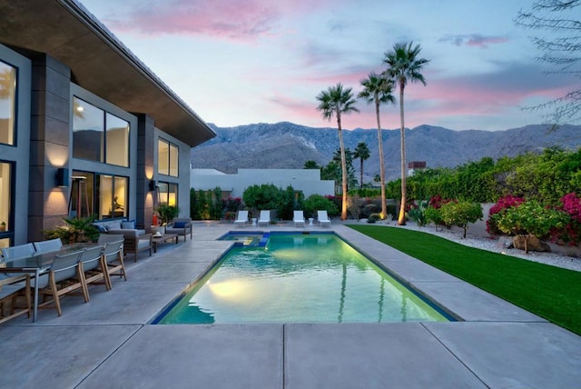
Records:
<instances>
[{"instance_id":1,"label":"thin bare tree branches in the top right corner","mask_svg":"<svg viewBox=\"0 0 581 389\"><path fill-rule=\"evenodd\" d=\"M556 68L548 74L565 74L581 78L581 22L578 11L581 0L538 0L527 11L518 12L515 22L525 28L545 30L552 36L532 37L533 44L544 55L537 59ZM576 13L576 14L575 14ZM571 83L579 85L578 83ZM575 123L581 119L581 89L570 91L547 103L527 107L533 110L553 108L545 117L554 125Z\"/></svg>"}]
</instances>

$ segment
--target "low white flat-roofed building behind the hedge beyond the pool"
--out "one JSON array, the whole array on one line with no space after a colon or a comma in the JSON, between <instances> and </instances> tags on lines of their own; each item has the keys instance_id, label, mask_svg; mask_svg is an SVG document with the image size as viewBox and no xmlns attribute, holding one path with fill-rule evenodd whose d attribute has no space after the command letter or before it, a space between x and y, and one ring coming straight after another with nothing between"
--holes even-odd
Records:
<instances>
[{"instance_id":1,"label":"low white flat-roofed building behind the hedge beyond the pool","mask_svg":"<svg viewBox=\"0 0 581 389\"><path fill-rule=\"evenodd\" d=\"M321 180L319 169L238 169L236 175L227 175L215 169L192 169L192 188L212 190L220 187L232 196L242 196L251 185L272 184L286 189L291 185L302 191L305 197L310 194L333 195L335 182Z\"/></svg>"}]
</instances>

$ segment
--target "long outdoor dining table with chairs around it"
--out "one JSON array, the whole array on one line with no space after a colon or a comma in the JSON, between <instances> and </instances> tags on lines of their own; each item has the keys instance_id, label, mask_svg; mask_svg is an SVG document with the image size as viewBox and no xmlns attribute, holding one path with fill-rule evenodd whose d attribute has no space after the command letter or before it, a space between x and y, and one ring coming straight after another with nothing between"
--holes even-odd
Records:
<instances>
[{"instance_id":1,"label":"long outdoor dining table with chairs around it","mask_svg":"<svg viewBox=\"0 0 581 389\"><path fill-rule=\"evenodd\" d=\"M33 304L33 322L36 321L38 313L38 280L41 275L47 274L53 264L56 255L71 254L81 252L85 248L102 245L97 243L74 243L64 244L59 250L47 251L44 253L34 253L28 257L5 258L6 268L15 268L19 270L30 270L31 278L34 278L34 304Z\"/></svg>"}]
</instances>

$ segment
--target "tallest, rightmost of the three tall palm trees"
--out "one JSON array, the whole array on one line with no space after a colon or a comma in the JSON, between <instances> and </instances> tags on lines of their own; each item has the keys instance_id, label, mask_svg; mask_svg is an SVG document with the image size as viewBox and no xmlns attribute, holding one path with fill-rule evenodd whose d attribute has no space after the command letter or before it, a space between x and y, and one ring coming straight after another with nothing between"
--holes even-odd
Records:
<instances>
[{"instance_id":1,"label":"tallest, rightmost of the three tall palm trees","mask_svg":"<svg viewBox=\"0 0 581 389\"><path fill-rule=\"evenodd\" d=\"M400 42L393 45L393 50L385 53L383 63L388 65L384 72L387 78L394 80L399 85L399 119L401 121L401 204L399 206L398 225L406 224L406 137L403 115L403 93L408 81L412 83L420 82L426 85L424 75L421 74L429 60L419 58L421 47L413 43Z\"/></svg>"}]
</instances>

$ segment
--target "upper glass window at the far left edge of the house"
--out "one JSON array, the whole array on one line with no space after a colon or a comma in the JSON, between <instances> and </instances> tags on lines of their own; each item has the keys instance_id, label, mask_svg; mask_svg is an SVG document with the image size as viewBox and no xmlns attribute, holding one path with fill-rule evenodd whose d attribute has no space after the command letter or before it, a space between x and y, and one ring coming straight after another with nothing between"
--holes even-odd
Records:
<instances>
[{"instance_id":1,"label":"upper glass window at the far left edge of the house","mask_svg":"<svg viewBox=\"0 0 581 389\"><path fill-rule=\"evenodd\" d=\"M15 144L16 68L0 61L0 144Z\"/></svg>"}]
</instances>

